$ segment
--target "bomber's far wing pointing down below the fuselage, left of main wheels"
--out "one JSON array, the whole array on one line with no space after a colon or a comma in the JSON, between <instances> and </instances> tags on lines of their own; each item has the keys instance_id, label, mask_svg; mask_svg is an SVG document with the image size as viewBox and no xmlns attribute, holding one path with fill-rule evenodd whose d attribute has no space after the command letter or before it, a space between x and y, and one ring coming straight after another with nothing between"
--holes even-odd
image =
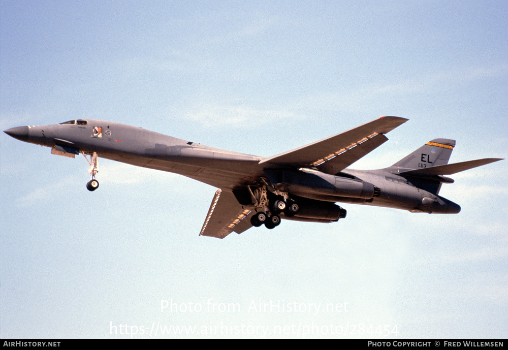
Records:
<instances>
[{"instance_id":1,"label":"bomber's far wing pointing down below the fuselage, left of main wheels","mask_svg":"<svg viewBox=\"0 0 508 350\"><path fill-rule=\"evenodd\" d=\"M242 233L252 227L249 214L250 210L238 203L233 192L218 189L199 235L224 238L233 231Z\"/></svg>"}]
</instances>

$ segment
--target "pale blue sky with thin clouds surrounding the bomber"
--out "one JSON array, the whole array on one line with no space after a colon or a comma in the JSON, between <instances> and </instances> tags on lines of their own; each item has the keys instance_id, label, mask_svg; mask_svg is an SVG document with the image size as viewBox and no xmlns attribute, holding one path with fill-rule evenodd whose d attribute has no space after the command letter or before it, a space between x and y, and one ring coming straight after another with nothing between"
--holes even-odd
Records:
<instances>
[{"instance_id":1,"label":"pale blue sky with thin clouds surrounding the bomber","mask_svg":"<svg viewBox=\"0 0 508 350\"><path fill-rule=\"evenodd\" d=\"M104 119L270 156L396 115L409 121L352 168L434 138L457 140L451 162L508 154L503 1L2 0L0 11L2 130ZM506 161L443 185L457 215L344 204L334 224L224 240L198 237L215 188L99 166L89 193L82 157L0 135L3 338L508 333ZM149 334L156 325L172 334Z\"/></svg>"}]
</instances>

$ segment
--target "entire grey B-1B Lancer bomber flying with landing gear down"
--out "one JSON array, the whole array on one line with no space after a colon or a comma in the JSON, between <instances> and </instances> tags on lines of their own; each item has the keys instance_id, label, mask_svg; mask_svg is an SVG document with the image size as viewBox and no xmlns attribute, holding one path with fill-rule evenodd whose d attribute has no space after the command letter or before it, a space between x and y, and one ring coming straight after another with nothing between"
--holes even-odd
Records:
<instances>
[{"instance_id":1,"label":"entire grey B-1B Lancer bomber flying with landing gear down","mask_svg":"<svg viewBox=\"0 0 508 350\"><path fill-rule=\"evenodd\" d=\"M346 216L336 202L411 212L458 213L439 196L444 176L500 161L484 158L448 164L454 140L435 139L378 170L347 167L385 143L407 121L380 117L357 128L270 157L226 151L115 122L77 119L56 125L19 126L5 133L51 147L51 153L82 154L90 165L86 187L96 190L98 157L168 171L218 187L200 235L224 238L252 226L273 229L281 219L333 222Z\"/></svg>"}]
</instances>

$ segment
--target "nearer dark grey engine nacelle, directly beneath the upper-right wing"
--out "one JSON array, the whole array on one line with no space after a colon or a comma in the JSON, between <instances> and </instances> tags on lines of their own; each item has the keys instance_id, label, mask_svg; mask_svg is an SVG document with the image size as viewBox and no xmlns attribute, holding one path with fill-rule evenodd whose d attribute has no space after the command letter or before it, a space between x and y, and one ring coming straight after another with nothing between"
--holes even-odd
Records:
<instances>
[{"instance_id":1,"label":"nearer dark grey engine nacelle, directly beneath the upper-right wing","mask_svg":"<svg viewBox=\"0 0 508 350\"><path fill-rule=\"evenodd\" d=\"M316 198L315 195L362 199L374 197L374 185L370 182L325 174L317 170L267 169L265 174L277 189L300 197Z\"/></svg>"}]
</instances>

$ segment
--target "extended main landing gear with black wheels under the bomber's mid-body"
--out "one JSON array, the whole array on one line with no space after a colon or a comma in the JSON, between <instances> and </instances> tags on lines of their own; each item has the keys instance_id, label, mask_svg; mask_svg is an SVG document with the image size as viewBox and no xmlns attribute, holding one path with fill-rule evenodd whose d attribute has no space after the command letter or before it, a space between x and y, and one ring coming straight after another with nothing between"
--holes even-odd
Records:
<instances>
[{"instance_id":1,"label":"extended main landing gear with black wheels under the bomber's mid-body","mask_svg":"<svg viewBox=\"0 0 508 350\"><path fill-rule=\"evenodd\" d=\"M254 192L249 188L252 198L255 200L257 212L250 217L250 223L254 227L265 225L267 229L273 229L280 224L280 213L285 216L294 216L300 207L296 202L283 193L268 193L266 186L255 189ZM258 211L259 210L259 211Z\"/></svg>"}]
</instances>

